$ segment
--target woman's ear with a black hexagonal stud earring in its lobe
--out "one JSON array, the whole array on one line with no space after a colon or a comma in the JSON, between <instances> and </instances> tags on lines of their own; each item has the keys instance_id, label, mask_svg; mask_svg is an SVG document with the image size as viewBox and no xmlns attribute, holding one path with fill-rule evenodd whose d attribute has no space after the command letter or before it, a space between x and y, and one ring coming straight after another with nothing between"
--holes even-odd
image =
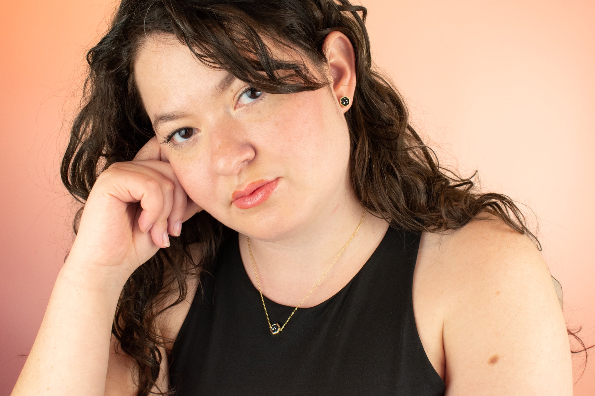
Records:
<instances>
[{"instance_id":1,"label":"woman's ear with a black hexagonal stud earring in its lobe","mask_svg":"<svg viewBox=\"0 0 595 396\"><path fill-rule=\"evenodd\" d=\"M355 52L347 36L340 31L331 31L322 44L322 50L327 57L330 77L333 81L333 93L337 106L345 113L353 102L355 92ZM349 98L349 104L343 107L340 100L343 96Z\"/></svg>"}]
</instances>

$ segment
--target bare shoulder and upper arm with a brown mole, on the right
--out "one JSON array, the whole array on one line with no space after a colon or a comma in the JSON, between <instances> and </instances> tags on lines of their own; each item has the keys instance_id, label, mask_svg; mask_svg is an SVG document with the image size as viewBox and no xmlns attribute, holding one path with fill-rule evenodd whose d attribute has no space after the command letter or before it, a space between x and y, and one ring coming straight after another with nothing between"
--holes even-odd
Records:
<instances>
[{"instance_id":1,"label":"bare shoulder and upper arm with a brown mole, on the right","mask_svg":"<svg viewBox=\"0 0 595 396\"><path fill-rule=\"evenodd\" d=\"M420 306L441 321L447 395L572 394L558 296L527 235L485 216L424 233L417 264L414 301L417 284Z\"/></svg>"}]
</instances>

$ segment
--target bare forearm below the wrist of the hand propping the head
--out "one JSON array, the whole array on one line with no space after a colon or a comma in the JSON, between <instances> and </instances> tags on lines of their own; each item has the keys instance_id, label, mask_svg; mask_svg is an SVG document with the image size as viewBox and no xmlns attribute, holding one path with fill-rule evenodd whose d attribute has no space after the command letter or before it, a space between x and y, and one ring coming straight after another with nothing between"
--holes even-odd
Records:
<instances>
[{"instance_id":1,"label":"bare forearm below the wrist of the hand propping the head","mask_svg":"<svg viewBox=\"0 0 595 396\"><path fill-rule=\"evenodd\" d=\"M12 396L104 396L111 325L127 276L69 256Z\"/></svg>"}]
</instances>

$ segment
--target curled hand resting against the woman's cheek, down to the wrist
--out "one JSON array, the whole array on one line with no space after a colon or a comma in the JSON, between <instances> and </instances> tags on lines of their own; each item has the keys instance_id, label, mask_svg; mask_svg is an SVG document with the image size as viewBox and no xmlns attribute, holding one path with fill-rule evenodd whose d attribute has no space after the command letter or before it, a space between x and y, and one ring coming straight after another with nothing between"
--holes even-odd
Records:
<instances>
[{"instance_id":1,"label":"curled hand resting against the woman's cheek, down to the wrist","mask_svg":"<svg viewBox=\"0 0 595 396\"><path fill-rule=\"evenodd\" d=\"M169 246L168 235L179 236L181 224L201 210L152 138L132 161L114 163L99 175L68 258L130 275Z\"/></svg>"}]
</instances>

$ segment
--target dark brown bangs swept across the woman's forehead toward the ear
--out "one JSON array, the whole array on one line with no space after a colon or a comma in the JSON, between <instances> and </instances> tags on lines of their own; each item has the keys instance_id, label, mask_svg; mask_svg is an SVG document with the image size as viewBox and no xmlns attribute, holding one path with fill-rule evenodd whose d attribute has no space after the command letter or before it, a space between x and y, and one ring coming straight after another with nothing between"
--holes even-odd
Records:
<instances>
[{"instance_id":1,"label":"dark brown bangs swept across the woman's forehead toward the ear","mask_svg":"<svg viewBox=\"0 0 595 396\"><path fill-rule=\"evenodd\" d=\"M295 27L275 26L273 29L262 23L267 20L262 18L263 12L274 18L283 11L275 10L275 4L281 3L281 7L286 8L285 2L262 2L267 4L267 10L258 10L258 20L250 15L254 4L243 2L243 9L229 4L202 7L196 1L158 3L143 7L143 24L134 32L136 34L131 32L131 36L136 37L136 49L149 36L173 34L203 65L224 69L267 93L314 91L330 84L311 70L312 66L320 68L325 64L324 55L313 55L311 49L300 45L299 40L291 40L285 31L295 30ZM274 53L287 54L291 60L276 58Z\"/></svg>"}]
</instances>

